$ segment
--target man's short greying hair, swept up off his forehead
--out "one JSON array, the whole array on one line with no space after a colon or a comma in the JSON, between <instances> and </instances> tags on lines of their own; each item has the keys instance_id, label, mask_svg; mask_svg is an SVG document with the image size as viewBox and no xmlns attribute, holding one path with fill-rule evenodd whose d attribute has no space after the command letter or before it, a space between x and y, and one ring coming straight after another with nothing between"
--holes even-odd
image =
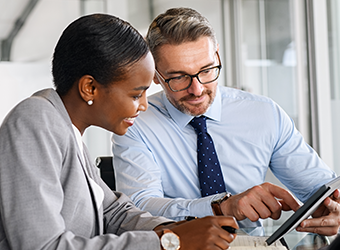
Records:
<instances>
[{"instance_id":1,"label":"man's short greying hair, swept up off his forehead","mask_svg":"<svg viewBox=\"0 0 340 250\"><path fill-rule=\"evenodd\" d=\"M180 45L206 36L217 45L215 31L208 19L190 8L168 9L150 24L146 41L157 61L157 49L164 44Z\"/></svg>"}]
</instances>

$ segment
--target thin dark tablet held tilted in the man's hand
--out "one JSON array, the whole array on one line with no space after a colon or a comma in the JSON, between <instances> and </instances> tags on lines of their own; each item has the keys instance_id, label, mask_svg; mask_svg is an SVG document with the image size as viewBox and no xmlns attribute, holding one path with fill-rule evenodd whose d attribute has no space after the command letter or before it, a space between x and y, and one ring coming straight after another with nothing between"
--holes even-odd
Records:
<instances>
[{"instance_id":1,"label":"thin dark tablet held tilted in the man's hand","mask_svg":"<svg viewBox=\"0 0 340 250\"><path fill-rule=\"evenodd\" d=\"M321 186L291 217L289 217L267 240L267 244L281 239L284 235L295 229L309 217L318 206L330 196L335 189L340 188L340 176Z\"/></svg>"}]
</instances>

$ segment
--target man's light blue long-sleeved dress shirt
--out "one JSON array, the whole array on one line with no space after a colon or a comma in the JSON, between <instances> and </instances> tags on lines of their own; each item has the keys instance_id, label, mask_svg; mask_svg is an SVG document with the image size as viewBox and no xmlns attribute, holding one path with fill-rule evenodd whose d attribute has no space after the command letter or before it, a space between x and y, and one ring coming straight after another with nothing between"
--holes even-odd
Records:
<instances>
[{"instance_id":1,"label":"man's light blue long-sleeved dress shirt","mask_svg":"<svg viewBox=\"0 0 340 250\"><path fill-rule=\"evenodd\" d=\"M219 86L205 116L232 194L263 183L268 168L301 201L335 177L267 97ZM223 195L201 198L192 118L161 91L149 97L148 110L124 136L112 138L117 189L153 215L175 220L212 215L210 202ZM249 223L240 226L254 226Z\"/></svg>"}]
</instances>

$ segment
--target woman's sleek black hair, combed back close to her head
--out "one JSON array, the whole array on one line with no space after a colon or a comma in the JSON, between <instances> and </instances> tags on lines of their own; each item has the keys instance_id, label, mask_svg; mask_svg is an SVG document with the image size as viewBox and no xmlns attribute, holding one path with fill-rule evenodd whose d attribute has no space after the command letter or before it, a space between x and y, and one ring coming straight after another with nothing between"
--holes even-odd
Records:
<instances>
[{"instance_id":1,"label":"woman's sleek black hair, combed back close to her head","mask_svg":"<svg viewBox=\"0 0 340 250\"><path fill-rule=\"evenodd\" d=\"M84 75L108 85L124 79L149 48L128 22L106 14L80 17L61 35L53 55L52 74L60 95Z\"/></svg>"}]
</instances>

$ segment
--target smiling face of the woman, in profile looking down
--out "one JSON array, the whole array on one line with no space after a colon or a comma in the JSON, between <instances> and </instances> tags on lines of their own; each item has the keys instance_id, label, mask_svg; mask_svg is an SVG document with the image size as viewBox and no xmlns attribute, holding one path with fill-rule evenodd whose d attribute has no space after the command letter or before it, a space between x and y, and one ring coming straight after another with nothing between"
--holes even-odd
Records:
<instances>
[{"instance_id":1,"label":"smiling face of the woman, in profile looking down","mask_svg":"<svg viewBox=\"0 0 340 250\"><path fill-rule=\"evenodd\" d=\"M133 64L124 80L97 88L94 98L96 126L123 135L133 125L140 111L147 109L146 90L154 77L155 64L151 53ZM93 105L94 106L94 105Z\"/></svg>"}]
</instances>

